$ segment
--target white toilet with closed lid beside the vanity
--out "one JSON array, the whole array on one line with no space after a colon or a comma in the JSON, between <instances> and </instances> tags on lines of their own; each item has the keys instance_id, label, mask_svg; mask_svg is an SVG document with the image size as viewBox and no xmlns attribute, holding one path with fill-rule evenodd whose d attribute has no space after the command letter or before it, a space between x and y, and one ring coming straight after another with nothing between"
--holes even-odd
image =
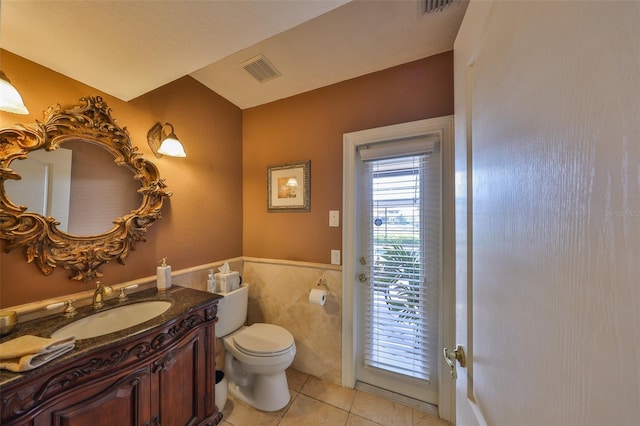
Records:
<instances>
[{"instance_id":1,"label":"white toilet with closed lid beside the vanity","mask_svg":"<svg viewBox=\"0 0 640 426\"><path fill-rule=\"evenodd\" d=\"M224 373L229 393L262 411L277 411L289 403L285 370L296 345L284 328L264 323L245 326L249 285L220 294L216 337L224 345Z\"/></svg>"}]
</instances>

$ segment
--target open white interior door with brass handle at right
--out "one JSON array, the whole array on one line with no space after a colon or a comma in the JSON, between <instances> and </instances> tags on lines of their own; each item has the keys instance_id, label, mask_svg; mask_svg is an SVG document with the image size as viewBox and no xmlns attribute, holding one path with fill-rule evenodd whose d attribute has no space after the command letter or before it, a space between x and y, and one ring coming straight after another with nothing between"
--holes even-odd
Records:
<instances>
[{"instance_id":1,"label":"open white interior door with brass handle at right","mask_svg":"<svg viewBox=\"0 0 640 426\"><path fill-rule=\"evenodd\" d=\"M472 1L454 69L456 424L636 424L640 3Z\"/></svg>"}]
</instances>

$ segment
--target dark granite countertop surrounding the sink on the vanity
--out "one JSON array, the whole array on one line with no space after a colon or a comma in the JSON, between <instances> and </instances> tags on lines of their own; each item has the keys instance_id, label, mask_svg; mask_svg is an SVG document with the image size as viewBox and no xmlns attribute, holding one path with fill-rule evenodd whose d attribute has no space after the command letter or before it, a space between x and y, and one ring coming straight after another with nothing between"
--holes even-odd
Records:
<instances>
[{"instance_id":1,"label":"dark granite countertop surrounding the sink on the vanity","mask_svg":"<svg viewBox=\"0 0 640 426\"><path fill-rule=\"evenodd\" d=\"M40 337L50 337L51 333L58 330L65 325L71 324L81 318L88 317L97 312L102 312L118 306L129 305L138 302L145 302L150 300L166 300L171 302L171 307L164 313L158 315L155 318L145 321L133 327L126 328L124 330L117 331L115 333L109 333L102 336L77 340L75 348L67 354L57 358L41 367L35 368L24 373L13 373L8 370L0 370L0 390L3 386L13 384L15 382L22 381L32 375L42 374L46 370L55 368L60 363L71 361L75 358L79 358L94 350L103 349L109 345L123 343L127 340L131 340L141 333L145 333L154 328L162 328L164 324L187 314L193 310L197 310L201 306L209 303L212 300L221 298L221 296L206 291L194 290L190 288L172 286L167 291L158 291L155 288L143 290L137 293L128 295L125 301L119 301L117 295L108 300L105 300L104 307L99 310L93 309L92 306L83 306L78 308L78 314L72 318L65 318L62 313L55 315L49 315L47 317L26 321L19 323L16 328L6 336L0 339L0 343L8 340L15 339L16 337L31 334Z\"/></svg>"}]
</instances>

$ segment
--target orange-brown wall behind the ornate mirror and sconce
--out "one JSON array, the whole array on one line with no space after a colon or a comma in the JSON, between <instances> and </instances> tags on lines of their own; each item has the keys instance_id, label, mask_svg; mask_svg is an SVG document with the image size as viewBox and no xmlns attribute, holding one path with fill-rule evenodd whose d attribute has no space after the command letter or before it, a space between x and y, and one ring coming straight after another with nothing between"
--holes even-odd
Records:
<instances>
[{"instance_id":1,"label":"orange-brown wall behind the ornate mirror and sconce","mask_svg":"<svg viewBox=\"0 0 640 426\"><path fill-rule=\"evenodd\" d=\"M42 120L43 111L70 107L85 96L101 95L112 115L129 130L132 144L153 161L173 196L165 199L163 219L154 224L126 260L104 265L105 284L155 274L168 257L174 270L242 255L242 111L191 77L123 102L38 64L2 51L2 69L20 89L30 115L0 112L0 126ZM170 121L183 141L185 159L155 158L147 131ZM45 277L27 264L21 249L0 253L0 307L87 290L93 284L68 279L61 268Z\"/></svg>"}]
</instances>

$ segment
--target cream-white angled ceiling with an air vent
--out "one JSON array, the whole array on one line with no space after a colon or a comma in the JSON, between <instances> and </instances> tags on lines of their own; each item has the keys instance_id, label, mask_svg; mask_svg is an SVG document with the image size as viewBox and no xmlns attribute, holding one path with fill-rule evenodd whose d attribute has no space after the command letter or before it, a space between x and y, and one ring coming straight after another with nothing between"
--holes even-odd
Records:
<instances>
[{"instance_id":1,"label":"cream-white angled ceiling with an air vent","mask_svg":"<svg viewBox=\"0 0 640 426\"><path fill-rule=\"evenodd\" d=\"M0 0L0 42L124 101L184 75L245 109L451 50L467 7L419 0ZM241 64L263 54L281 76Z\"/></svg>"}]
</instances>

